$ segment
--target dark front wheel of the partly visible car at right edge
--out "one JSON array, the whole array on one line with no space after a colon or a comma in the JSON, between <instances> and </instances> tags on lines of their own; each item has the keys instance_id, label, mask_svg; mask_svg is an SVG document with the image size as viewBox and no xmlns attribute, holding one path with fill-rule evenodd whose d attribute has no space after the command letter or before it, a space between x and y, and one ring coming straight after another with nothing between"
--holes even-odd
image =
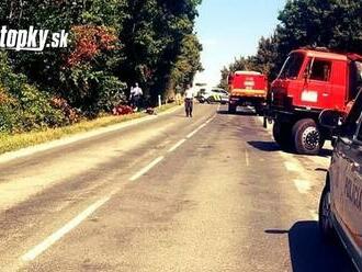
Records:
<instances>
[{"instance_id":1,"label":"dark front wheel of the partly visible car at right edge","mask_svg":"<svg viewBox=\"0 0 362 272\"><path fill-rule=\"evenodd\" d=\"M327 184L320 196L318 218L318 226L323 240L326 242L335 241L336 233L331 220L330 190Z\"/></svg>"}]
</instances>

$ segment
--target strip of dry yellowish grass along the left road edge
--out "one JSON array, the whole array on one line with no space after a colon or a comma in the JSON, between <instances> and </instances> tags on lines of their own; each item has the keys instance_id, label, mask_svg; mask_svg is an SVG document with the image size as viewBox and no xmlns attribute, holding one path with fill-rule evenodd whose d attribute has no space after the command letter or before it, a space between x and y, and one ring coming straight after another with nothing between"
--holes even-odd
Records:
<instances>
[{"instance_id":1,"label":"strip of dry yellowish grass along the left road edge","mask_svg":"<svg viewBox=\"0 0 362 272\"><path fill-rule=\"evenodd\" d=\"M158 113L168 111L177 106L176 104L166 104L161 109L157 109ZM83 121L71 126L59 128L48 128L41 132L31 132L16 135L1 135L0 134L0 155L9 151L15 151L21 148L35 146L50 140L64 138L69 135L89 132L92 129L111 126L126 121L140 118L147 116L146 113L134 113L123 116L104 116L92 121Z\"/></svg>"}]
</instances>

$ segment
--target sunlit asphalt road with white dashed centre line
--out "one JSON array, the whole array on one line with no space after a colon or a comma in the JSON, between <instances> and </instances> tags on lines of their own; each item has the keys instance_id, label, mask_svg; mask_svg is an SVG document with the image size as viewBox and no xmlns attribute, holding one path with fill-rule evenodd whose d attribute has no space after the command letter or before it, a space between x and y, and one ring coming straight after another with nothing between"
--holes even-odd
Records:
<instances>
[{"instance_id":1,"label":"sunlit asphalt road with white dashed centre line","mask_svg":"<svg viewBox=\"0 0 362 272\"><path fill-rule=\"evenodd\" d=\"M1 271L353 271L316 211L330 150L196 105L0 165Z\"/></svg>"}]
</instances>

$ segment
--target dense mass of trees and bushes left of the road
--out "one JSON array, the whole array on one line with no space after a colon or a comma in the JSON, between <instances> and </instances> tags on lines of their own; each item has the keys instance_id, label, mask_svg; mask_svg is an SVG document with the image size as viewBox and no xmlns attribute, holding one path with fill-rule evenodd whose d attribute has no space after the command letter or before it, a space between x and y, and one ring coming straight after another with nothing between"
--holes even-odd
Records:
<instances>
[{"instance_id":1,"label":"dense mass of trees and bushes left of the road","mask_svg":"<svg viewBox=\"0 0 362 272\"><path fill-rule=\"evenodd\" d=\"M60 126L124 103L139 82L157 98L201 70L193 34L201 0L57 0L0 3L9 29L69 33L67 48L0 54L0 131ZM9 61L8 61L9 59ZM125 83L126 82L126 83ZM39 91L42 90L42 91ZM75 107L79 111L75 111Z\"/></svg>"}]
</instances>

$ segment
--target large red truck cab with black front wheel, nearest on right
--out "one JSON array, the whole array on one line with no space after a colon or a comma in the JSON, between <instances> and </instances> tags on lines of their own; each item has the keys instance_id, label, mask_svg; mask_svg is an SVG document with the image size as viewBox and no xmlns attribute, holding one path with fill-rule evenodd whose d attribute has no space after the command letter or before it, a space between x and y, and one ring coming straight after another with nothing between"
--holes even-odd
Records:
<instances>
[{"instance_id":1,"label":"large red truck cab with black front wheel, nearest on right","mask_svg":"<svg viewBox=\"0 0 362 272\"><path fill-rule=\"evenodd\" d=\"M361 86L362 56L293 50L268 93L265 118L274 121L275 141L297 154L318 154L331 137L318 123L320 112L347 112Z\"/></svg>"}]
</instances>

